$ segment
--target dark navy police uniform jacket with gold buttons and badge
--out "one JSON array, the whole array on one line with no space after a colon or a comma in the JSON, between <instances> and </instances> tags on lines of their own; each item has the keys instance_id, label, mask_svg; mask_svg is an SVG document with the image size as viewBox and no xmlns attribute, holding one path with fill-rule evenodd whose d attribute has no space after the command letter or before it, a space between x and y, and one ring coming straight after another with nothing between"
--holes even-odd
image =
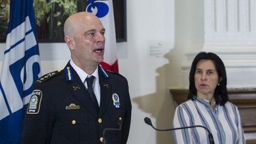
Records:
<instances>
[{"instance_id":1,"label":"dark navy police uniform jacket with gold buttons and badge","mask_svg":"<svg viewBox=\"0 0 256 144\"><path fill-rule=\"evenodd\" d=\"M131 102L124 76L98 67L100 109L97 111L70 63L35 83L23 121L21 142L124 144L130 130ZM117 121L122 120L121 130ZM104 135L104 136L103 136ZM104 137L104 139L103 139Z\"/></svg>"}]
</instances>

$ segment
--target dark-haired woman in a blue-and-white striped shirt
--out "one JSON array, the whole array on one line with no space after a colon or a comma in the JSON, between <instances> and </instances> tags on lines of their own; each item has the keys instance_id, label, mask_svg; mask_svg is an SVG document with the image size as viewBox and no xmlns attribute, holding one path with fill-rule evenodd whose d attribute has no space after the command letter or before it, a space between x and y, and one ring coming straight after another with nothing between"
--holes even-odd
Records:
<instances>
[{"instance_id":1,"label":"dark-haired woman in a blue-and-white striped shirt","mask_svg":"<svg viewBox=\"0 0 256 144\"><path fill-rule=\"evenodd\" d=\"M188 100L177 106L173 127L200 125L208 128L214 143L246 143L237 106L227 96L227 75L223 61L214 53L199 53L189 74ZM186 128L173 132L175 143L210 143L208 131Z\"/></svg>"}]
</instances>

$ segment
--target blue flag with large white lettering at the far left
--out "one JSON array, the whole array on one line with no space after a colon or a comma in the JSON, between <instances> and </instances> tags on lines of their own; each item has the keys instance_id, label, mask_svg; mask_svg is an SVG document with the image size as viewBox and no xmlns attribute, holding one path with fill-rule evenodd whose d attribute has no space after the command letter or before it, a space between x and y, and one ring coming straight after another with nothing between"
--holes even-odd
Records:
<instances>
[{"instance_id":1,"label":"blue flag with large white lettering at the far left","mask_svg":"<svg viewBox=\"0 0 256 144\"><path fill-rule=\"evenodd\" d=\"M11 0L0 77L0 143L20 143L32 85L41 75L33 0Z\"/></svg>"}]
</instances>

